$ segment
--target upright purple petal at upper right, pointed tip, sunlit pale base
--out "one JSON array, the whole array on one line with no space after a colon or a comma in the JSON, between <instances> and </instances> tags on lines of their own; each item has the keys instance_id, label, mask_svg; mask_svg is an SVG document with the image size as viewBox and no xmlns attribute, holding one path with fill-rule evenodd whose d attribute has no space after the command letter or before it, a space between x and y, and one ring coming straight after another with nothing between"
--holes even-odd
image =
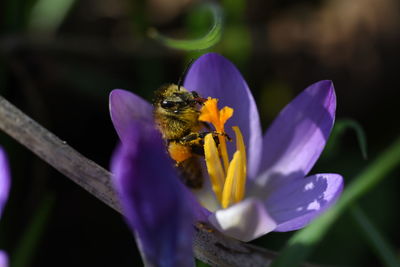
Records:
<instances>
[{"instance_id":1,"label":"upright purple petal at upper right, pointed tip, sunlit pale base","mask_svg":"<svg viewBox=\"0 0 400 267\"><path fill-rule=\"evenodd\" d=\"M264 136L257 184L265 186L270 176L307 175L329 137L335 110L331 81L312 84L290 102Z\"/></svg>"}]
</instances>

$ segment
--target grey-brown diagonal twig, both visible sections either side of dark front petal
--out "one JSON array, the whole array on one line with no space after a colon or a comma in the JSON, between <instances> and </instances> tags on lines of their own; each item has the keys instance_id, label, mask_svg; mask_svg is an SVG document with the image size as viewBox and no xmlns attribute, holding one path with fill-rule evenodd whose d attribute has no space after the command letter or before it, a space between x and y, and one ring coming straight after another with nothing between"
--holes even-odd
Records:
<instances>
[{"instance_id":1,"label":"grey-brown diagonal twig, both visible sections either side of dark front petal","mask_svg":"<svg viewBox=\"0 0 400 267\"><path fill-rule=\"evenodd\" d=\"M121 212L111 173L82 156L0 96L0 129L89 193ZM225 237L208 225L195 226L195 256L213 266L268 266L276 253Z\"/></svg>"}]
</instances>

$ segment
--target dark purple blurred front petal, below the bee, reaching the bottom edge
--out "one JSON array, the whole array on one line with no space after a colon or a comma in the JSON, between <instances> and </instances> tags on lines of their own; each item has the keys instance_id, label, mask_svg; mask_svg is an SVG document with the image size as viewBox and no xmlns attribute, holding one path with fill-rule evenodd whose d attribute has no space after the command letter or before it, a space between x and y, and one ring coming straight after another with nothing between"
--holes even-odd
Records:
<instances>
[{"instance_id":1,"label":"dark purple blurred front petal, below the bee, reaching the bottom edge","mask_svg":"<svg viewBox=\"0 0 400 267\"><path fill-rule=\"evenodd\" d=\"M193 266L191 200L160 134L133 123L113 155L113 182L149 266Z\"/></svg>"}]
</instances>

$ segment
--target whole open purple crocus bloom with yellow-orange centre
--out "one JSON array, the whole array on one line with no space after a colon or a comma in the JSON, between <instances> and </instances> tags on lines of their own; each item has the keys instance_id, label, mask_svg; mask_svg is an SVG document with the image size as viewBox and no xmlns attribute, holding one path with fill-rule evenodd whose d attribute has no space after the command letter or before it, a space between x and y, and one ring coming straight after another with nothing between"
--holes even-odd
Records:
<instances>
[{"instance_id":1,"label":"whole open purple crocus bloom with yellow-orange centre","mask_svg":"<svg viewBox=\"0 0 400 267\"><path fill-rule=\"evenodd\" d=\"M237 197L232 197L227 204L218 201L215 190L212 190L218 187L215 181L208 182L200 192L191 192L176 183L178 174L171 167L174 163L166 155L159 135L154 133L152 106L128 91L112 91L110 112L123 144L122 151L131 151L125 154L135 153L140 158L140 161L125 161L120 149L113 160L118 166L115 168L115 180L123 197L122 206L126 208L128 222L135 222L131 226L138 236L141 235L141 227L150 231L152 227L157 229L161 226L165 228L163 236L166 238L168 231L179 233L177 228L191 220L184 216L178 218L182 214L171 208L180 201L190 206L195 220L208 221L228 236L250 241L271 231L300 229L339 197L343 187L340 175L325 173L308 176L325 146L335 119L336 97L331 81L320 81L306 88L280 112L264 135L254 98L245 80L224 57L210 53L198 58L190 67L183 87L198 92L202 97L216 99L221 107L232 109L233 114L221 115L224 109L219 110L214 105L211 109L216 115L209 117L207 111L202 111L202 116L214 126L222 126L228 136L236 136L236 148L227 143L228 161L223 160L221 165L225 167L217 169L227 170L226 177L222 175L226 181L231 179L229 175L245 180L230 180L228 195L237 194ZM212 121L218 116L222 121L214 124ZM206 158L207 154L212 158L220 151L213 150L213 141L210 141L213 138L208 140L205 140L205 145L210 146L205 147ZM232 161L229 162L230 159ZM214 163L207 159L211 172L213 168L216 170L217 161ZM233 166L231 174L230 166ZM130 189L123 190L123 187L134 188L132 191L137 195L129 195ZM148 209L140 207L134 210L137 203L148 203ZM179 204L178 210L184 209L182 206ZM149 226L145 224L148 218L157 220ZM184 231L183 234L189 232ZM178 237L181 238L181 235ZM146 238L151 236L143 235L143 247L146 246ZM174 252L180 255L179 250Z\"/></svg>"}]
</instances>

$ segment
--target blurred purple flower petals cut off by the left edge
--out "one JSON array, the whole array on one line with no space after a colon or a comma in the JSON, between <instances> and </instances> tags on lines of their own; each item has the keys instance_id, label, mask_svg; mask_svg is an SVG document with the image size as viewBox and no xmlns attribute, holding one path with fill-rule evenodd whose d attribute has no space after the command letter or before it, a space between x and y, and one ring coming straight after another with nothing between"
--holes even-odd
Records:
<instances>
[{"instance_id":1,"label":"blurred purple flower petals cut off by the left edge","mask_svg":"<svg viewBox=\"0 0 400 267\"><path fill-rule=\"evenodd\" d=\"M8 160L5 152L0 148L0 217L3 213L3 208L8 199L10 191L10 171ZM0 267L8 266L8 256L4 251L0 250Z\"/></svg>"}]
</instances>

